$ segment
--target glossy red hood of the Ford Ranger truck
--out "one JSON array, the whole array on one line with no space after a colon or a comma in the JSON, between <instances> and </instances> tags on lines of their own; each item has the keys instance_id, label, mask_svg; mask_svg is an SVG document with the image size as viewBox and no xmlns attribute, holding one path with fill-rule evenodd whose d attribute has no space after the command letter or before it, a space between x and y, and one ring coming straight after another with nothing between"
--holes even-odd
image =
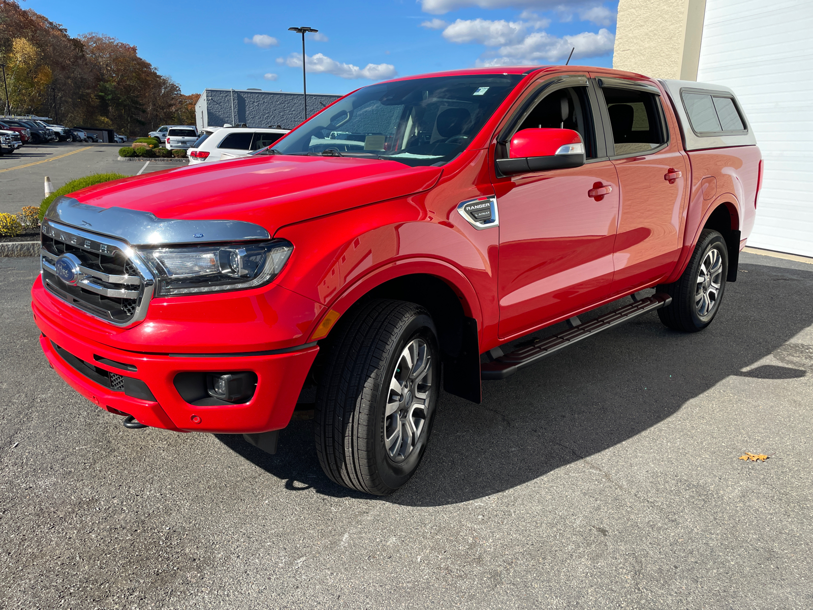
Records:
<instances>
[{"instance_id":1,"label":"glossy red hood of the Ford Ranger truck","mask_svg":"<svg viewBox=\"0 0 813 610\"><path fill-rule=\"evenodd\" d=\"M278 155L188 166L91 186L70 197L159 219L285 224L430 189L441 168L397 161Z\"/></svg>"}]
</instances>

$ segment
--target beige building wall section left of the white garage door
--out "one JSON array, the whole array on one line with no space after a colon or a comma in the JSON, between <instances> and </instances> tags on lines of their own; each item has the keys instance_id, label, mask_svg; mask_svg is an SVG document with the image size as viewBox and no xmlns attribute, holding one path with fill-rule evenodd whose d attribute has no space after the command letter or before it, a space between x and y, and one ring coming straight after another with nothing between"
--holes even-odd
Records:
<instances>
[{"instance_id":1,"label":"beige building wall section left of the white garage door","mask_svg":"<svg viewBox=\"0 0 813 610\"><path fill-rule=\"evenodd\" d=\"M697 81L706 0L620 0L612 67Z\"/></svg>"}]
</instances>

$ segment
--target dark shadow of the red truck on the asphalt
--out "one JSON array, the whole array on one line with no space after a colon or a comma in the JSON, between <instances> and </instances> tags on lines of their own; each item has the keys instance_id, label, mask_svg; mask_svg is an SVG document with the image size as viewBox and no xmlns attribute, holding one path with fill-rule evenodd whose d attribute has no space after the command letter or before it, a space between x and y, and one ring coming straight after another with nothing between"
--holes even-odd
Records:
<instances>
[{"instance_id":1,"label":"dark shadow of the red truck on the asphalt","mask_svg":"<svg viewBox=\"0 0 813 610\"><path fill-rule=\"evenodd\" d=\"M807 299L813 294L813 269L797 266L741 262L744 272L727 286L720 315L702 333L666 329L653 313L506 381L485 381L480 405L441 394L415 477L382 500L439 506L492 495L650 429L728 376L781 380L811 374L813 347L785 345L813 324ZM784 366L742 371L772 353ZM276 455L241 436L217 437L287 481L290 490L369 498L322 473L311 421L292 421L282 430Z\"/></svg>"}]
</instances>

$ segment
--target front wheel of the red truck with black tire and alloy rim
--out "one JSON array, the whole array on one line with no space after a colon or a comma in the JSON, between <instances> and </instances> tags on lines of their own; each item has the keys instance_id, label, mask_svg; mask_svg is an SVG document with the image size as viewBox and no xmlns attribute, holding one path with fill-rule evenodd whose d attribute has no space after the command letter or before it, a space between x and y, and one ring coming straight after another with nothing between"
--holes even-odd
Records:
<instances>
[{"instance_id":1,"label":"front wheel of the red truck with black tire and alloy rim","mask_svg":"<svg viewBox=\"0 0 813 610\"><path fill-rule=\"evenodd\" d=\"M424 455L440 391L440 351L420 305L376 299L334 330L316 393L316 453L339 485L388 495Z\"/></svg>"}]
</instances>

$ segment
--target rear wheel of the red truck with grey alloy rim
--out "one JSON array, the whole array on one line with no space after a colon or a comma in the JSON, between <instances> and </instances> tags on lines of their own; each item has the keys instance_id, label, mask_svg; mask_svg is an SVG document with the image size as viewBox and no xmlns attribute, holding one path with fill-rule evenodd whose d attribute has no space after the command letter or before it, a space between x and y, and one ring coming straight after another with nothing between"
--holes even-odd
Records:
<instances>
[{"instance_id":1,"label":"rear wheel of the red truck with grey alloy rim","mask_svg":"<svg viewBox=\"0 0 813 610\"><path fill-rule=\"evenodd\" d=\"M672 297L658 316L670 329L696 333L711 324L720 310L728 274L728 247L720 233L703 229L692 258L680 279L659 285L658 292Z\"/></svg>"}]
</instances>

